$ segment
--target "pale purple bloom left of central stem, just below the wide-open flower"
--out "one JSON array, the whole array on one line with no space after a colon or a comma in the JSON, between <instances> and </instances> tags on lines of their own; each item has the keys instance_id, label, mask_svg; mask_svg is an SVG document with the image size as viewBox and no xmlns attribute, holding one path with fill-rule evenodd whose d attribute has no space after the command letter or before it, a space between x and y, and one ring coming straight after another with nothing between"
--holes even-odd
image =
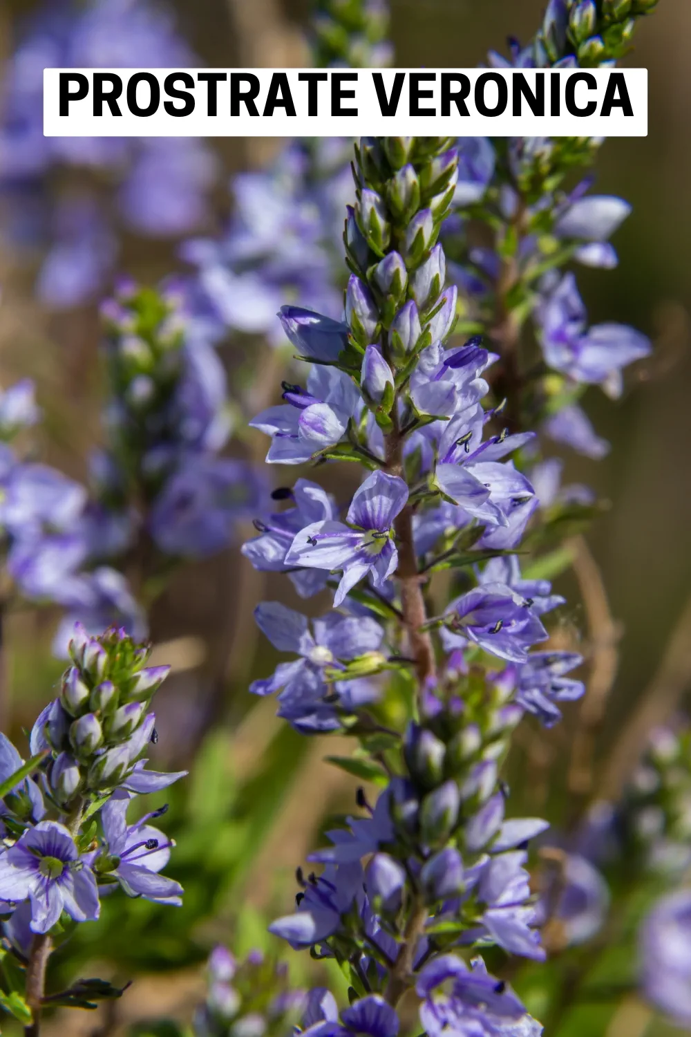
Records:
<instances>
[{"instance_id":1,"label":"pale purple bloom left of central stem, just below the wide-open flower","mask_svg":"<svg viewBox=\"0 0 691 1037\"><path fill-rule=\"evenodd\" d=\"M280 664L271 677L255 680L250 691L255 695L279 692L278 716L298 731L310 734L335 730L341 726L338 706L352 709L376 697L374 689L367 685L353 694L350 681L332 685L323 675L325 668L338 671L344 669L344 663L377 651L383 630L376 620L329 613L314 621L313 636L307 617L279 601L257 606L255 618L280 651L295 652L300 657ZM336 702L332 701L334 692Z\"/></svg>"}]
</instances>

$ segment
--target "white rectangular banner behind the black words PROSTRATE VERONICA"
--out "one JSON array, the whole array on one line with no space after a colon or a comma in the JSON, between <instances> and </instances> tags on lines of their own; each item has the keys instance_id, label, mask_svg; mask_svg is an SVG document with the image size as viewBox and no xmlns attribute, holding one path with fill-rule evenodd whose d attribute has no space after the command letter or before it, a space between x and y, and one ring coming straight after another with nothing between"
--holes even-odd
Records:
<instances>
[{"instance_id":1,"label":"white rectangular banner behind the black words PROSTRATE VERONICA","mask_svg":"<svg viewBox=\"0 0 691 1037\"><path fill-rule=\"evenodd\" d=\"M330 77L333 74L350 72L351 69L320 69ZM372 78L373 72L381 72L386 90L391 96L394 76L397 72L435 73L435 82L421 83L421 90L430 90L431 97L420 97L421 108L440 109L441 72L462 73L470 80L470 94L466 100L468 116L461 116L452 101L449 116L441 115L410 115L409 114L409 79L403 85L398 112L395 116L383 116ZM489 117L477 112L473 102L474 83L479 76L491 71L498 73L508 81L509 104L502 115ZM450 136L450 137L645 137L647 135L647 69L626 68L616 69L623 74L629 99L633 108L633 116L625 116L621 108L613 108L609 116L601 117L600 110L605 95L606 84L612 73L611 68L586 69L597 81L597 90L588 90L586 83L579 83L575 88L576 104L584 107L588 101L597 102L595 115L571 115L565 104L565 82L560 83L560 114L558 116L532 115L525 100L522 102L522 114L516 117L513 111L513 69L484 68L384 68L357 69L357 80L344 82L343 90L354 90L354 97L343 96L344 108L357 108L356 116L333 116L330 114L330 82L318 84L318 114L308 115L308 84L299 82L299 73L315 72L314 68L46 68L44 71L44 133L47 137L361 137L361 136ZM69 103L67 116L59 113L59 75L60 73L81 73L89 81L89 93L83 101ZM115 73L122 79L122 94L118 105L122 115L112 115L108 104L103 105L103 115L93 115L93 74L94 72ZM155 114L138 116L132 114L126 105L126 84L137 73L153 74L161 86L161 103ZM195 79L192 93L195 97L195 110L191 115L176 117L169 115L164 109L164 102L169 101L177 107L182 107L181 101L169 97L165 93L164 81L171 73L189 73ZM256 100L258 116L248 113L246 104L240 102L240 114L230 115L229 83L218 84L218 115L207 115L207 84L197 82L198 73L222 72L244 73L259 79L260 90ZM285 72L296 109L296 115L289 116L282 108L277 108L270 116L263 116L264 102L273 72ZM525 76L527 85L535 92L535 80L538 69L520 69ZM550 79L558 75L566 80L574 73L583 69L545 69L546 108L550 105ZM182 89L178 80L175 84ZM74 89L75 84L71 85ZM244 87L246 88L246 87ZM454 85L454 90L458 86ZM138 88L138 102L142 106L149 103L150 92L146 83ZM496 103L497 87L495 83L486 88L486 104Z\"/></svg>"}]
</instances>

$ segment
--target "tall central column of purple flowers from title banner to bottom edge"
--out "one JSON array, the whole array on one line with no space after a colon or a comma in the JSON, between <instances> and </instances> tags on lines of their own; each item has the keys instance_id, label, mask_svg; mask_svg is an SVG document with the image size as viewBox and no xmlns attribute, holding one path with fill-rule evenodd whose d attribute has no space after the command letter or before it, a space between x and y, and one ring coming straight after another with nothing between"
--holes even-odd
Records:
<instances>
[{"instance_id":1,"label":"tall central column of purple flowers from title banner to bottom edge","mask_svg":"<svg viewBox=\"0 0 691 1037\"><path fill-rule=\"evenodd\" d=\"M540 1032L482 958L468 966L457 950L544 955L523 865L546 824L505 819L499 767L525 709L553 722L582 685L565 676L578 656L529 650L547 638L542 614L562 601L524 580L514 557L538 502L505 458L531 435L484 411L493 358L480 343L445 348L457 303L438 242L458 177L451 144L355 145L346 323L284 309L312 363L307 387L284 385L284 403L253 422L272 438L269 461L349 459L369 471L343 521L309 480L277 492L286 510L244 548L257 567L288 571L303 596L336 590L336 611L313 629L278 602L257 609L264 634L297 658L253 691L278 692L279 714L300 731L356 736L354 757L336 762L381 788L373 807L358 795L365 814L328 834L333 845L311 857L322 874L298 873L297 913L270 927L336 957L348 977L340 1021L325 1002L312 1019L329 1032L394 1037L396 1006L413 987L429 1034L452 1022ZM488 424L497 430L485 435ZM460 594L434 614L442 569L459 574Z\"/></svg>"}]
</instances>

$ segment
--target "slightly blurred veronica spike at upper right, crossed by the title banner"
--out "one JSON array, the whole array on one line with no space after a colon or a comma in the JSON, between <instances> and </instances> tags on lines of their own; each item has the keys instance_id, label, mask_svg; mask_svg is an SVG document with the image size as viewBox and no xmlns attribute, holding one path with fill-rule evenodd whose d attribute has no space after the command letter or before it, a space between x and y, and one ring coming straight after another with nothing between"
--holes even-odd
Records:
<instances>
[{"instance_id":1,"label":"slightly blurred veronica spike at upper right, crossed by the title banner","mask_svg":"<svg viewBox=\"0 0 691 1037\"><path fill-rule=\"evenodd\" d=\"M511 40L494 66L597 67L627 53L637 20L655 2L552 0L535 39ZM588 385L622 392L622 370L650 352L645 336L623 325L588 327L571 260L611 269L609 243L630 213L621 198L588 194L592 178L567 178L588 166L601 141L587 138L472 139L461 142L459 215L448 245L464 291L463 323L491 334L501 353L493 388L506 398L512 429L541 426L591 457L608 445L578 399ZM477 228L484 226L480 236ZM492 242L488 247L487 240ZM528 332L531 329L531 334Z\"/></svg>"}]
</instances>

